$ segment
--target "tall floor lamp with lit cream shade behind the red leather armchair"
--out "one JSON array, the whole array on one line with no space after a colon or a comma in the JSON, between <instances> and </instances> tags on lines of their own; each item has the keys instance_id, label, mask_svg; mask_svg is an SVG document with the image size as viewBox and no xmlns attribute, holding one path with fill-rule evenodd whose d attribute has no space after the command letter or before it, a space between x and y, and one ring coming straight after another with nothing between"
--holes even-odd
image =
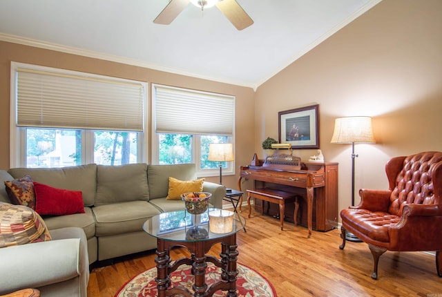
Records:
<instances>
[{"instance_id":1,"label":"tall floor lamp with lit cream shade behind the red leather armchair","mask_svg":"<svg viewBox=\"0 0 442 297\"><path fill-rule=\"evenodd\" d=\"M335 119L332 144L352 144L352 206L354 206L354 153L355 143L375 143L371 117L340 117ZM346 232L346 240L362 242L350 232Z\"/></svg>"}]
</instances>

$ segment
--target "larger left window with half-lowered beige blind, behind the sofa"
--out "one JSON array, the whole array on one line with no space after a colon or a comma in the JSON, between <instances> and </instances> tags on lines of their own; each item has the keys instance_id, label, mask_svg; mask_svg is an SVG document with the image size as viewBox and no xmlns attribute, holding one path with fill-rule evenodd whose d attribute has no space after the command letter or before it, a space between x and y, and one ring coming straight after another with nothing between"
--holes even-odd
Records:
<instances>
[{"instance_id":1,"label":"larger left window with half-lowered beige blind, behind the sofa","mask_svg":"<svg viewBox=\"0 0 442 297\"><path fill-rule=\"evenodd\" d=\"M145 83L14 62L11 78L12 166L145 160Z\"/></svg>"}]
</instances>

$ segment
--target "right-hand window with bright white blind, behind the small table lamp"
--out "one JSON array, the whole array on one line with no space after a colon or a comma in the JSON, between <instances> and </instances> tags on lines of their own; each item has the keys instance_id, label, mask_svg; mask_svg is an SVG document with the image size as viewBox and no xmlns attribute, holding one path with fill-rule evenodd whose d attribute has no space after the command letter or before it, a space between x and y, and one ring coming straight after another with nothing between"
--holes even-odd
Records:
<instances>
[{"instance_id":1,"label":"right-hand window with bright white blind, behind the small table lamp","mask_svg":"<svg viewBox=\"0 0 442 297\"><path fill-rule=\"evenodd\" d=\"M170 86L152 86L152 162L195 163L199 176L219 175L211 162L209 144L233 142L234 97ZM233 162L222 163L233 174Z\"/></svg>"}]
</instances>

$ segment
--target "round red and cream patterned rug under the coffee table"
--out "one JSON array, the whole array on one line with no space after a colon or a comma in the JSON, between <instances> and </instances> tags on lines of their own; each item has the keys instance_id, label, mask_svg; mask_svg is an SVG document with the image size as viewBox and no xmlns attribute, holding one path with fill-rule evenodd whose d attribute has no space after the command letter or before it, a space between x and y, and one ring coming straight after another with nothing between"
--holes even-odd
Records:
<instances>
[{"instance_id":1,"label":"round red and cream patterned rug under the coffee table","mask_svg":"<svg viewBox=\"0 0 442 297\"><path fill-rule=\"evenodd\" d=\"M276 297L276 292L271 283L258 272L250 267L237 263L239 271L236 287L238 288L238 297ZM221 269L208 263L206 268L206 284L210 285L221 278ZM126 285L118 290L115 297L147 297L157 296L157 268L153 267L147 271L138 274ZM192 291L193 275L191 266L181 265L171 274L172 285L181 285ZM226 296L227 291L216 291L213 296Z\"/></svg>"}]
</instances>

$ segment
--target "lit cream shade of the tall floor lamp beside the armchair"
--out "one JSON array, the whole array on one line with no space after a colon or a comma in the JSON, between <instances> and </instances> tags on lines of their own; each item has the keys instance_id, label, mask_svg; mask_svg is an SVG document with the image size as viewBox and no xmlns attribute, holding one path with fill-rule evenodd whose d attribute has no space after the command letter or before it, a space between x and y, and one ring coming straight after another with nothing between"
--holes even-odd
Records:
<instances>
[{"instance_id":1,"label":"lit cream shade of the tall floor lamp beside the armchair","mask_svg":"<svg viewBox=\"0 0 442 297\"><path fill-rule=\"evenodd\" d=\"M340 117L335 119L332 144L354 142L375 143L371 117Z\"/></svg>"}]
</instances>

